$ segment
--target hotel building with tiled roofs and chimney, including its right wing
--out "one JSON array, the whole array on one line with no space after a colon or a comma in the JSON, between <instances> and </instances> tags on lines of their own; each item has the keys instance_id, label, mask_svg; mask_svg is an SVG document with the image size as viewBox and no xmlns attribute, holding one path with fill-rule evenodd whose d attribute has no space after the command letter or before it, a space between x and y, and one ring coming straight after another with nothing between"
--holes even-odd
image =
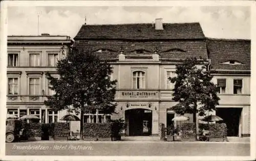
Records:
<instances>
[{"instance_id":1,"label":"hotel building with tiled roofs and chimney, including its right wing","mask_svg":"<svg viewBox=\"0 0 256 161\"><path fill-rule=\"evenodd\" d=\"M84 24L74 40L76 47L111 63L112 78L118 81L118 114L111 117L125 119L126 135L158 135L160 123L176 124L172 121L176 113L169 110L177 103L172 100L174 84L168 77L175 75L175 65L196 57L208 60L212 81L220 88L220 105L208 114L223 117L228 136L249 136L250 41L243 40L246 47L234 47L239 41L206 38L199 23L162 23L161 19L154 24ZM185 115L193 121L191 114Z\"/></svg>"}]
</instances>

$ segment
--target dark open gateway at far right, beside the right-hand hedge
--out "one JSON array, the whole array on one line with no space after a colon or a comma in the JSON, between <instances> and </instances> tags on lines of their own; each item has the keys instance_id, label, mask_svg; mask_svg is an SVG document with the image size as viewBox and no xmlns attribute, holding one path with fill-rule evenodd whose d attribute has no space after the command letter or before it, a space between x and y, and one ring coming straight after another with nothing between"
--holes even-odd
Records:
<instances>
[{"instance_id":1,"label":"dark open gateway at far right, beside the right-hand hedge","mask_svg":"<svg viewBox=\"0 0 256 161\"><path fill-rule=\"evenodd\" d=\"M239 137L239 125L242 108L218 108L216 115L227 125L227 136Z\"/></svg>"}]
</instances>

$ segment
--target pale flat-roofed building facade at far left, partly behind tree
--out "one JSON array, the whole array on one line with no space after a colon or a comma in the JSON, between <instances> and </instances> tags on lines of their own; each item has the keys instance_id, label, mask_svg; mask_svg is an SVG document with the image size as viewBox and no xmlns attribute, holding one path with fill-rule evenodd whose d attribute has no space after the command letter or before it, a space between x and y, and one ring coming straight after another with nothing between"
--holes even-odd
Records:
<instances>
[{"instance_id":1,"label":"pale flat-roofed building facade at far left, partly behind tree","mask_svg":"<svg viewBox=\"0 0 256 161\"><path fill-rule=\"evenodd\" d=\"M46 72L58 76L57 60L68 55L69 36L8 36L7 43L7 113L18 117L36 115L39 122L59 121L61 112L44 105L51 95Z\"/></svg>"}]
</instances>

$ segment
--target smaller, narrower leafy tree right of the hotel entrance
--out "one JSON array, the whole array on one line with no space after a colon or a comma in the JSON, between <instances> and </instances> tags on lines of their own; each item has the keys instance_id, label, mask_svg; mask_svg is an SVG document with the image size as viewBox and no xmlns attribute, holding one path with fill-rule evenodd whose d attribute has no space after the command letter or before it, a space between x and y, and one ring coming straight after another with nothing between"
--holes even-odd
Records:
<instances>
[{"instance_id":1,"label":"smaller, narrower leafy tree right of the hotel entrance","mask_svg":"<svg viewBox=\"0 0 256 161\"><path fill-rule=\"evenodd\" d=\"M206 111L216 110L220 98L217 96L218 88L211 82L212 75L205 66L206 61L188 58L176 65L176 77L169 77L175 83L173 100L178 102L171 109L177 114L193 114L196 123L196 139L198 134L197 113L204 116ZM200 68L201 66L201 68Z\"/></svg>"}]
</instances>

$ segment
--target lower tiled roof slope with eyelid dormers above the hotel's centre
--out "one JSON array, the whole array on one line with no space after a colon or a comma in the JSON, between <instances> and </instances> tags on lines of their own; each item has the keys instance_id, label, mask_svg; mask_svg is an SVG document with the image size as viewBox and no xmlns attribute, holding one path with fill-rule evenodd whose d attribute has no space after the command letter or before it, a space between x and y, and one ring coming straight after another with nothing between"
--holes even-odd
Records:
<instances>
[{"instance_id":1,"label":"lower tiled roof slope with eyelid dormers above the hotel's centre","mask_svg":"<svg viewBox=\"0 0 256 161\"><path fill-rule=\"evenodd\" d=\"M185 59L202 58L208 59L206 43L204 40L172 40L172 41L76 41L75 46L84 51L96 51L109 49L111 52L98 53L101 59L116 59L122 49L124 54L131 54L137 49L146 50L147 54L153 54L158 49L160 58ZM169 51L169 49L181 49L181 51ZM167 51L167 52L166 52Z\"/></svg>"}]
</instances>

